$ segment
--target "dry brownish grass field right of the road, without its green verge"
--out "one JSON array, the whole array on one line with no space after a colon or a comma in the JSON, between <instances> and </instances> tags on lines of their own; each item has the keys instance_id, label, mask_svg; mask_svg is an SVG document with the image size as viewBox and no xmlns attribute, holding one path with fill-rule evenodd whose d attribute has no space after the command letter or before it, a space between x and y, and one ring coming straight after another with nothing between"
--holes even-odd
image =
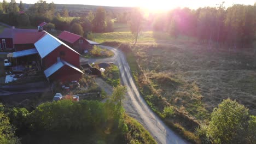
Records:
<instances>
[{"instance_id":1,"label":"dry brownish grass field right of the road, without its green verge","mask_svg":"<svg viewBox=\"0 0 256 144\"><path fill-rule=\"evenodd\" d=\"M161 112L164 105L174 105L179 112L199 122L207 121L214 107L227 98L236 99L256 115L256 57L243 52L207 50L194 42L168 45L137 45L139 66L161 102L154 103ZM146 91L146 89L145 89Z\"/></svg>"}]
</instances>

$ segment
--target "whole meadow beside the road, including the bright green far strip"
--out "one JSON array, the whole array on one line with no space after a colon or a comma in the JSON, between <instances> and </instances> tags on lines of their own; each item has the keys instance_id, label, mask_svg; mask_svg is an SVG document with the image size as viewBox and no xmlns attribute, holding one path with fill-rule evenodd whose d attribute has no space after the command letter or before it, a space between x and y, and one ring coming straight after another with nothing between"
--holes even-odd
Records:
<instances>
[{"instance_id":1,"label":"whole meadow beside the road, including the bright green far strip","mask_svg":"<svg viewBox=\"0 0 256 144\"><path fill-rule=\"evenodd\" d=\"M195 38L172 38L153 31L142 32L136 45L130 32L95 36L100 43L129 45L116 47L125 51L144 99L168 125L193 142L198 140L195 128L209 122L213 108L223 99L236 99L256 115L256 58L252 49L229 51L225 45L207 49L207 44ZM174 106L176 117L164 117L164 106Z\"/></svg>"}]
</instances>

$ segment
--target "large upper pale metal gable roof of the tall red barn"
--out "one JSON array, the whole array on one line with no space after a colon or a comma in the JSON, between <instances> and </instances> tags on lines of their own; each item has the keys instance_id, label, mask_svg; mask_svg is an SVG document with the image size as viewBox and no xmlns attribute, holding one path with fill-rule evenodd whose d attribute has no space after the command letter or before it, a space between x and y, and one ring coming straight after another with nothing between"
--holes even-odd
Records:
<instances>
[{"instance_id":1,"label":"large upper pale metal gable roof of the tall red barn","mask_svg":"<svg viewBox=\"0 0 256 144\"><path fill-rule=\"evenodd\" d=\"M44 58L47 56L50 52L54 51L57 47L60 45L66 46L68 49L71 49L75 53L78 53L77 51L73 50L71 47L63 43L61 40L55 38L53 35L45 32L43 38L39 39L34 46L36 46L36 49L40 55L41 58ZM78 53L78 55L80 55Z\"/></svg>"}]
</instances>

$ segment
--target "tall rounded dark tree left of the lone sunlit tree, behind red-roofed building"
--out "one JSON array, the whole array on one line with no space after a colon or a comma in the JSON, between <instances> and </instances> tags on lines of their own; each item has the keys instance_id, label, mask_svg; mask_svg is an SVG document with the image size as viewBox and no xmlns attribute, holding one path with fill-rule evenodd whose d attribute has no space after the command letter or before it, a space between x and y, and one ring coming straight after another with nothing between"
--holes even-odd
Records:
<instances>
[{"instance_id":1,"label":"tall rounded dark tree left of the lone sunlit tree, behind red-roofed building","mask_svg":"<svg viewBox=\"0 0 256 144\"><path fill-rule=\"evenodd\" d=\"M93 31L96 33L101 33L105 31L106 27L106 11L104 8L100 7L97 8L96 16L94 17L94 20L92 21L94 28Z\"/></svg>"}]
</instances>

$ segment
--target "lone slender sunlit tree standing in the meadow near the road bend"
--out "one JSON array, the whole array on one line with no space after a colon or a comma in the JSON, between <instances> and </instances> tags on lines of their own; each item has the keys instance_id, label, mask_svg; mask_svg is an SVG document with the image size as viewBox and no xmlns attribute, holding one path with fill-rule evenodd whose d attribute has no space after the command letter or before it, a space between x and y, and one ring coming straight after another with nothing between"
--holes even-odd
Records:
<instances>
[{"instance_id":1,"label":"lone slender sunlit tree standing in the meadow near the road bend","mask_svg":"<svg viewBox=\"0 0 256 144\"><path fill-rule=\"evenodd\" d=\"M142 30L143 15L140 9L132 11L128 25L130 26L131 33L135 36L135 44L137 43L138 34Z\"/></svg>"}]
</instances>

